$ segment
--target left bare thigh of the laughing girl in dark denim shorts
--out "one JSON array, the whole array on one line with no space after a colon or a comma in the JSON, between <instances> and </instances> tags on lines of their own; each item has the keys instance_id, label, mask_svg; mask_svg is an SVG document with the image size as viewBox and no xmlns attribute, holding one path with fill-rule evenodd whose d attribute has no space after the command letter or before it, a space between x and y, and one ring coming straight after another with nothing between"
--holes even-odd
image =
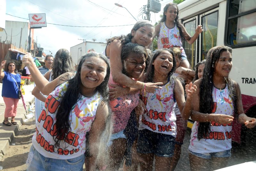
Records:
<instances>
[{"instance_id":1,"label":"left bare thigh of the laughing girl in dark denim shorts","mask_svg":"<svg viewBox=\"0 0 256 171\"><path fill-rule=\"evenodd\" d=\"M153 153L147 153L147 154L140 153L140 157L142 159L142 162L140 162L140 171L152 171L153 170L154 154Z\"/></svg>"}]
</instances>

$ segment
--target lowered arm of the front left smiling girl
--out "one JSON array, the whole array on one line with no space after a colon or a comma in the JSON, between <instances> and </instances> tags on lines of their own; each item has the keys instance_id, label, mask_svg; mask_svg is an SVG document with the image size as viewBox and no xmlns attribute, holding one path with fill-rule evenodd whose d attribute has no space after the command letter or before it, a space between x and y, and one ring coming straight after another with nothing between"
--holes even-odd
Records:
<instances>
[{"instance_id":1,"label":"lowered arm of the front left smiling girl","mask_svg":"<svg viewBox=\"0 0 256 171\"><path fill-rule=\"evenodd\" d=\"M100 138L106 127L108 115L108 106L103 102L97 108L96 116L92 122L92 127L89 133L88 144L86 144L89 145L88 149L90 153L90 157L86 157L87 170L89 171L96 170L96 159L100 152Z\"/></svg>"}]
</instances>

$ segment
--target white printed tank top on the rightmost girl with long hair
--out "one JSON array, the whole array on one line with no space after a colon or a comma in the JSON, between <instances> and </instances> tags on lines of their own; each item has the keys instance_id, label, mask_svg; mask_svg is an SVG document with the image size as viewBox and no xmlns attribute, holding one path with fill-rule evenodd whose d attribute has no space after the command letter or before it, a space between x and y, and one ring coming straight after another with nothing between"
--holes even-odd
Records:
<instances>
[{"instance_id":1,"label":"white printed tank top on the rightmost girl with long hair","mask_svg":"<svg viewBox=\"0 0 256 171\"><path fill-rule=\"evenodd\" d=\"M229 96L228 86L220 90L213 87L213 110L212 114L224 114L233 116L234 104ZM195 122L190 136L189 150L196 153L222 152L231 149L232 123L219 124L211 122L211 131L202 139L197 139L198 122Z\"/></svg>"}]
</instances>

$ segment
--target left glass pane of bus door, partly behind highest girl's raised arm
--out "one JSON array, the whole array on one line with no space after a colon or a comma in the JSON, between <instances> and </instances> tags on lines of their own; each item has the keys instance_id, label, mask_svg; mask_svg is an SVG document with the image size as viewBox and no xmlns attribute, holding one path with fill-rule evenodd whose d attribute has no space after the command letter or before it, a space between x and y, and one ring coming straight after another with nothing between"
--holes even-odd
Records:
<instances>
[{"instance_id":1,"label":"left glass pane of bus door, partly behind highest girl's raised arm","mask_svg":"<svg viewBox=\"0 0 256 171\"><path fill-rule=\"evenodd\" d=\"M187 32L189 35L194 35L195 34L195 28L196 28L196 20L189 21L187 23L183 23L184 27L186 28ZM187 41L183 41L183 48L185 50L185 53L187 55L187 59L189 64L191 65L192 68L195 66L195 60L196 60L196 41L190 45Z\"/></svg>"}]
</instances>

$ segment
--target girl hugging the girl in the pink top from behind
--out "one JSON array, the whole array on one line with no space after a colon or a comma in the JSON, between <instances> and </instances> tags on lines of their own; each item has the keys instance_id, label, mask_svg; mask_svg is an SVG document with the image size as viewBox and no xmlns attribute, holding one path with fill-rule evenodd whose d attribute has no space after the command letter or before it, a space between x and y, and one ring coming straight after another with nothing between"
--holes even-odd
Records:
<instances>
[{"instance_id":1,"label":"girl hugging the girl in the pink top from behind","mask_svg":"<svg viewBox=\"0 0 256 171\"><path fill-rule=\"evenodd\" d=\"M113 76L114 82L138 90L145 88L145 90L149 92L154 92L156 88L160 88L157 85L161 85L161 83L143 84L141 81L133 80L132 78L129 78L124 73L122 73L122 47L129 42L137 43L146 47L151 43L153 34L154 26L148 20L140 20L133 26L131 33L127 34L126 36L121 35L108 39L105 55L109 57L111 74ZM137 90L135 90L135 92L136 91Z\"/></svg>"}]
</instances>

